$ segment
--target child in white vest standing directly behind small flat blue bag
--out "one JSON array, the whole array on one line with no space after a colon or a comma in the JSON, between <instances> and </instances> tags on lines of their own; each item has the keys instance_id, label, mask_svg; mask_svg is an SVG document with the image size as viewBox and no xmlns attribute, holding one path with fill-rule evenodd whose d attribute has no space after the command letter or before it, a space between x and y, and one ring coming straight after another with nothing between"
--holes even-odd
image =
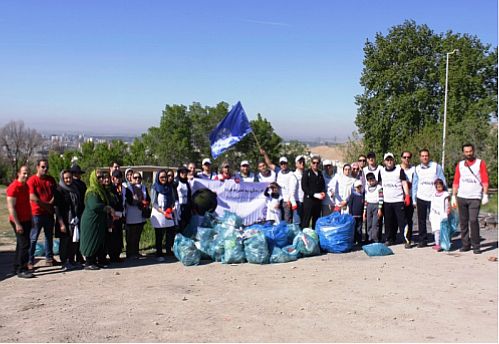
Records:
<instances>
[{"instance_id":1,"label":"child in white vest standing directly behind small flat blue bag","mask_svg":"<svg viewBox=\"0 0 499 344\"><path fill-rule=\"evenodd\" d=\"M367 173L366 180L363 217L367 221L367 239L369 242L379 242L381 233L378 220L383 215L383 188L378 184L378 180L372 172Z\"/></svg>"}]
</instances>

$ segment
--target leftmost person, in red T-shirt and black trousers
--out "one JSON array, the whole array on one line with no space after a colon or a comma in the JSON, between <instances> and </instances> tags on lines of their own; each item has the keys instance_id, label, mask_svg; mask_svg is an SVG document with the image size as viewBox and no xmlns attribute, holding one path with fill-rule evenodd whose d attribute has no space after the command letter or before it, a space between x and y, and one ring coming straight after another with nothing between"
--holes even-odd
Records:
<instances>
[{"instance_id":1,"label":"leftmost person, in red T-shirt and black trousers","mask_svg":"<svg viewBox=\"0 0 499 344\"><path fill-rule=\"evenodd\" d=\"M16 234L16 255L14 269L20 278L35 277L28 270L29 234L31 231L31 204L29 202L28 167L21 166L17 179L7 188L7 208L9 221Z\"/></svg>"}]
</instances>

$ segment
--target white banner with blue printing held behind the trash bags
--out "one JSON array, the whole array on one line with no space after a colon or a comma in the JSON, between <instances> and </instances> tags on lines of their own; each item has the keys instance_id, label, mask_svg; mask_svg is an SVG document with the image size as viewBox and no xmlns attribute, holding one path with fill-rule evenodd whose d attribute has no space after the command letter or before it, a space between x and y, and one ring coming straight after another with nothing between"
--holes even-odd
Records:
<instances>
[{"instance_id":1,"label":"white banner with blue printing held behind the trash bags","mask_svg":"<svg viewBox=\"0 0 499 344\"><path fill-rule=\"evenodd\" d=\"M224 182L194 178L192 193L199 189L210 189L217 194L218 206L215 213L222 216L224 211L236 213L245 225L264 221L266 214L263 192L269 183L236 183L229 179Z\"/></svg>"}]
</instances>

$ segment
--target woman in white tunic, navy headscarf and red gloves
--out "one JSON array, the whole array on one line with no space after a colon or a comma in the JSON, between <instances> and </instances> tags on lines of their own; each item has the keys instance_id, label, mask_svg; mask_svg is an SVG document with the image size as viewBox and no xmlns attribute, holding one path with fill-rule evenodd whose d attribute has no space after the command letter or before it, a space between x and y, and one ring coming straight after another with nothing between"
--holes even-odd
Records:
<instances>
[{"instance_id":1,"label":"woman in white tunic, navy headscarf and red gloves","mask_svg":"<svg viewBox=\"0 0 499 344\"><path fill-rule=\"evenodd\" d=\"M173 170L159 170L151 187L151 225L156 237L156 257L164 262L163 238L166 234L166 255L171 256L175 238L175 189Z\"/></svg>"}]
</instances>

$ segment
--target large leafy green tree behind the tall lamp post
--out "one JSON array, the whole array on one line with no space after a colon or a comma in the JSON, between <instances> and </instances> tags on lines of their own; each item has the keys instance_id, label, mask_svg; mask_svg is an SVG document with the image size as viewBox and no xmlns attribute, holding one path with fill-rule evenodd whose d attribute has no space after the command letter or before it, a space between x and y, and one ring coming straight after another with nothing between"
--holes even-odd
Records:
<instances>
[{"instance_id":1,"label":"large leafy green tree behind the tall lamp post","mask_svg":"<svg viewBox=\"0 0 499 344\"><path fill-rule=\"evenodd\" d=\"M480 148L490 135L490 118L497 118L497 48L406 21L364 47L355 123L366 150L431 147L433 158L441 157L446 53L456 48L460 53L449 63L446 174L463 142Z\"/></svg>"}]
</instances>

